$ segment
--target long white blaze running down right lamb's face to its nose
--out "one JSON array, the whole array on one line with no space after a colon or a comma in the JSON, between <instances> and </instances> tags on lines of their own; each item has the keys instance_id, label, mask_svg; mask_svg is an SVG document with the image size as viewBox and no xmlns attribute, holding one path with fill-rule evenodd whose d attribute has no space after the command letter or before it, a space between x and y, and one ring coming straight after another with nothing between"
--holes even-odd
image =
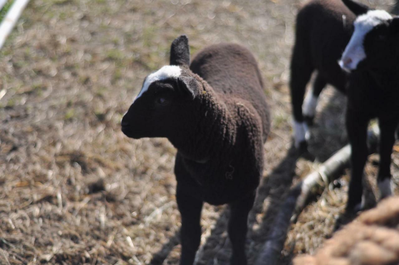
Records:
<instances>
[{"instance_id":1,"label":"long white blaze running down right lamb's face to its nose","mask_svg":"<svg viewBox=\"0 0 399 265\"><path fill-rule=\"evenodd\" d=\"M384 10L370 10L356 18L354 22L355 30L344 53L342 53L341 59L338 61L343 70L350 72L356 69L358 63L366 58L363 47L364 37L375 26L389 19L392 19L392 16Z\"/></svg>"}]
</instances>

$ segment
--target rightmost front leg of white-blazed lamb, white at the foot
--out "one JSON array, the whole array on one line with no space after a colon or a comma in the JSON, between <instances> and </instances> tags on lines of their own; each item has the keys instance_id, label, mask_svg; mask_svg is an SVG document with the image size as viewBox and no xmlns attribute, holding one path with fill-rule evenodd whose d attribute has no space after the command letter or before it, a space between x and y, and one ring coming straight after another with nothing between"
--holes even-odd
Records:
<instances>
[{"instance_id":1,"label":"rightmost front leg of white-blazed lamb, white at the foot","mask_svg":"<svg viewBox=\"0 0 399 265\"><path fill-rule=\"evenodd\" d=\"M397 127L396 120L384 121L379 119L379 129L381 131L379 146L379 171L377 184L381 199L392 194L391 187L391 154L392 147L395 143L395 129Z\"/></svg>"}]
</instances>

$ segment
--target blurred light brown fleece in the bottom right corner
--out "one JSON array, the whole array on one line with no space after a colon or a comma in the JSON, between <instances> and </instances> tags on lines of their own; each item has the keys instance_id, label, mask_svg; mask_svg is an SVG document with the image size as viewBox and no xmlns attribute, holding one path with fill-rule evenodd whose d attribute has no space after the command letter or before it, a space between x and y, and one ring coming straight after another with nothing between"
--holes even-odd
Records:
<instances>
[{"instance_id":1,"label":"blurred light brown fleece in the bottom right corner","mask_svg":"<svg viewBox=\"0 0 399 265\"><path fill-rule=\"evenodd\" d=\"M399 196L387 198L326 241L316 255L296 257L294 265L399 264Z\"/></svg>"}]
</instances>

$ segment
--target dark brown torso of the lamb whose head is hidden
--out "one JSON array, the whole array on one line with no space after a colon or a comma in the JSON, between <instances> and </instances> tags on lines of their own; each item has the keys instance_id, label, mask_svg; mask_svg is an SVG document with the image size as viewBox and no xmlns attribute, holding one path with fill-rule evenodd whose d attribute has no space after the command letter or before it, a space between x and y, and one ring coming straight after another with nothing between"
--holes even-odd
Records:
<instances>
[{"instance_id":1,"label":"dark brown torso of the lamb whose head is hidden","mask_svg":"<svg viewBox=\"0 0 399 265\"><path fill-rule=\"evenodd\" d=\"M337 60L352 35L355 18L341 0L308 2L297 16L291 67L317 69L327 83L343 91L344 73Z\"/></svg>"}]
</instances>

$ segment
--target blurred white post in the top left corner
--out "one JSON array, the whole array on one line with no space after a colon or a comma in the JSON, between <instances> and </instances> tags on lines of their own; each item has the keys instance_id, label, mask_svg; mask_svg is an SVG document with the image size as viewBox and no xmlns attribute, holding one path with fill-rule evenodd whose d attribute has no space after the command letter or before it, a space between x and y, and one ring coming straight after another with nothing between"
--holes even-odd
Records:
<instances>
[{"instance_id":1,"label":"blurred white post in the top left corner","mask_svg":"<svg viewBox=\"0 0 399 265\"><path fill-rule=\"evenodd\" d=\"M29 0L15 0L10 10L8 10L0 25L0 49L3 47L6 38L14 28L15 24L18 21L18 18L21 16L22 11L24 10L28 2Z\"/></svg>"}]
</instances>

